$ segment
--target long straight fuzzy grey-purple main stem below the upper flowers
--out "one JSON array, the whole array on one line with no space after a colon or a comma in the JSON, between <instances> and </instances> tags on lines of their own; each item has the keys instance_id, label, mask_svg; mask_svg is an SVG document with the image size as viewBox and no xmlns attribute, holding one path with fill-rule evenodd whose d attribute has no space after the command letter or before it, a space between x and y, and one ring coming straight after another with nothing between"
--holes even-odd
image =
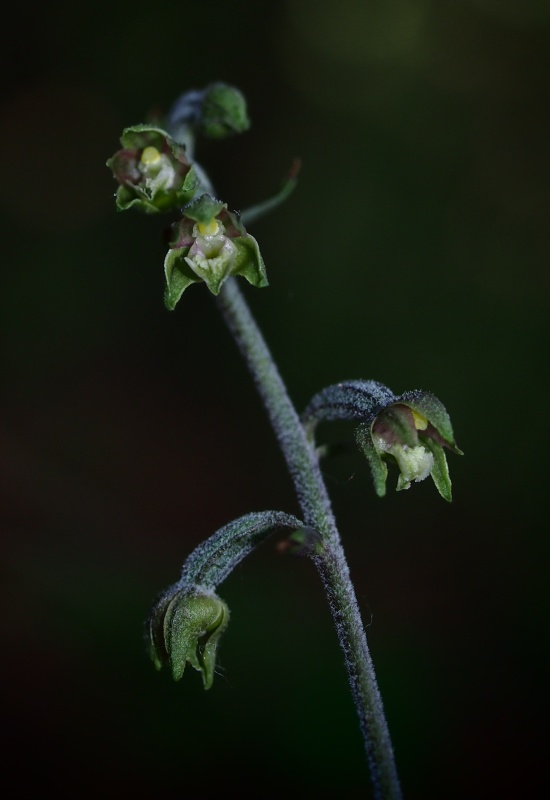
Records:
<instances>
[{"instance_id":1,"label":"long straight fuzzy grey-purple main stem below the upper flowers","mask_svg":"<svg viewBox=\"0 0 550 800\"><path fill-rule=\"evenodd\" d=\"M312 559L321 576L357 713L376 800L402 797L365 629L318 457L288 396L265 340L237 286L223 285L217 303L254 378L294 482L306 525L321 534Z\"/></svg>"}]
</instances>

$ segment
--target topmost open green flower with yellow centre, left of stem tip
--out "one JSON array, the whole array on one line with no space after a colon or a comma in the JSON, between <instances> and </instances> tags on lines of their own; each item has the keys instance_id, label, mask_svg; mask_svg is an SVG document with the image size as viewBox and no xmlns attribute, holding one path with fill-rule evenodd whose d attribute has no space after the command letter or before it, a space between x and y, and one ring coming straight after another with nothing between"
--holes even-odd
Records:
<instances>
[{"instance_id":1,"label":"topmost open green flower with yellow centre, left of stem tip","mask_svg":"<svg viewBox=\"0 0 550 800\"><path fill-rule=\"evenodd\" d=\"M119 211L171 211L187 203L199 187L199 177L185 148L162 128L134 125L120 138L122 149L107 161L119 182Z\"/></svg>"}]
</instances>

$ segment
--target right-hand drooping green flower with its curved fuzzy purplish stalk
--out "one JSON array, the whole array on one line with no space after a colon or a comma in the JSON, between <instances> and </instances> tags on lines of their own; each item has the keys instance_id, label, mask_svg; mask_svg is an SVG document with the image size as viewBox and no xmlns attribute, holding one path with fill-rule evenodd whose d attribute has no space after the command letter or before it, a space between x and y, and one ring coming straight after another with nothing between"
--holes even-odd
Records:
<instances>
[{"instance_id":1,"label":"right-hand drooping green flower with its curved fuzzy purplish stalk","mask_svg":"<svg viewBox=\"0 0 550 800\"><path fill-rule=\"evenodd\" d=\"M462 455L443 403L430 392L396 396L376 381L345 381L319 392L302 415L313 436L321 420L358 420L355 438L368 459L376 494L386 494L387 463L397 466L397 490L431 475L440 495L452 499L444 448Z\"/></svg>"}]
</instances>

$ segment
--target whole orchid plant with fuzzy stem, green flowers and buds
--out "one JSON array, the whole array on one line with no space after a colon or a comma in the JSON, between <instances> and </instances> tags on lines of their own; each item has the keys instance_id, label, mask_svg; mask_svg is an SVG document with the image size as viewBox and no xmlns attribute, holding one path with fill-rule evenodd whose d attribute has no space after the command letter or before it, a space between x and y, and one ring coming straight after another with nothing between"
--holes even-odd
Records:
<instances>
[{"instance_id":1,"label":"whole orchid plant with fuzzy stem, green flowers and buds","mask_svg":"<svg viewBox=\"0 0 550 800\"><path fill-rule=\"evenodd\" d=\"M202 542L187 557L179 580L154 603L146 624L147 648L157 669L167 666L179 680L190 664L209 689L220 638L229 623L229 609L217 588L266 537L282 533L285 549L311 558L320 574L359 716L374 796L395 800L402 793L393 748L323 479L321 460L329 450L317 441L317 426L331 420L357 423L356 441L380 497L390 468L397 473L397 490L431 476L450 502L446 451L461 451L445 407L429 392L395 395L373 380L343 381L322 389L298 414L237 278L257 288L268 286L258 242L245 225L292 193L299 164L276 196L239 214L216 196L210 177L194 157L197 138L223 139L248 127L242 93L214 83L183 94L164 120L126 128L121 148L107 161L118 183L118 210L173 215L164 259L165 305L174 310L194 283L205 283L214 295L265 406L301 509L300 518L274 510L246 514Z\"/></svg>"}]
</instances>

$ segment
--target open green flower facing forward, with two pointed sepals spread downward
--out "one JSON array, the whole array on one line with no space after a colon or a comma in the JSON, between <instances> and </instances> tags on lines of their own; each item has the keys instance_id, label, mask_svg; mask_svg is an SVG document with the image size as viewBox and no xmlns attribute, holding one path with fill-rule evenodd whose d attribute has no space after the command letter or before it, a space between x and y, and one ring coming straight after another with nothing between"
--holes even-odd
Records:
<instances>
[{"instance_id":1,"label":"open green flower facing forward, with two pointed sepals spread downward","mask_svg":"<svg viewBox=\"0 0 550 800\"><path fill-rule=\"evenodd\" d=\"M165 304L171 311L187 287L204 281L218 294L231 275L242 275L253 286L268 285L265 265L253 236L226 203L203 194L183 209L183 219L164 260Z\"/></svg>"}]
</instances>

